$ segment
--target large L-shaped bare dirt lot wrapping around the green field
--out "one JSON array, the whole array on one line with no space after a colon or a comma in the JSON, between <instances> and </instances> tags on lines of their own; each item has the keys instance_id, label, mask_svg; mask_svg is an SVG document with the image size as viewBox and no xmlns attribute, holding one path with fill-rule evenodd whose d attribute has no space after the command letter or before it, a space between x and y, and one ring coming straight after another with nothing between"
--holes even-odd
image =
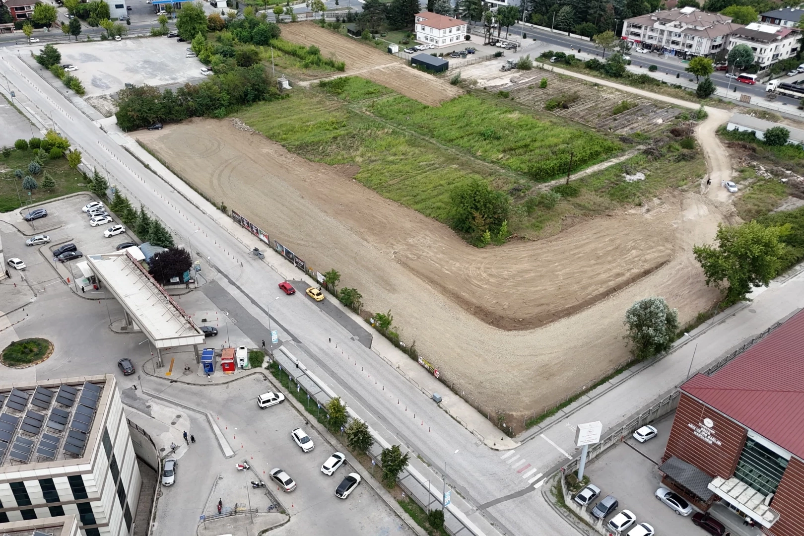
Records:
<instances>
[{"instance_id":1,"label":"large L-shaped bare dirt lot wrapping around the green field","mask_svg":"<svg viewBox=\"0 0 804 536\"><path fill-rule=\"evenodd\" d=\"M457 388L500 411L540 411L618 366L633 301L666 297L688 321L717 296L690 254L721 221L717 202L699 195L671 194L551 239L475 249L342 170L228 121L138 137L311 266L337 268L368 309L391 309L403 340L415 339Z\"/></svg>"}]
</instances>

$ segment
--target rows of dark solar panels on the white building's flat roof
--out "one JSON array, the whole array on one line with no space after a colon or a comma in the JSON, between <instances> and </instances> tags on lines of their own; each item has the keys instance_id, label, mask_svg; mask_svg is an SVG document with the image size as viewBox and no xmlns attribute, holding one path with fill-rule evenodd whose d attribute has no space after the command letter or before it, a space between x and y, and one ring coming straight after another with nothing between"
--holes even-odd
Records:
<instances>
[{"instance_id":1,"label":"rows of dark solar panels on the white building's flat roof","mask_svg":"<svg viewBox=\"0 0 804 536\"><path fill-rule=\"evenodd\" d=\"M80 389L68 385L59 391L36 387L33 392L16 388L0 394L0 464L6 459L23 464L34 454L39 460L55 460L59 445L68 456L81 456L95 418L101 388L84 382Z\"/></svg>"}]
</instances>

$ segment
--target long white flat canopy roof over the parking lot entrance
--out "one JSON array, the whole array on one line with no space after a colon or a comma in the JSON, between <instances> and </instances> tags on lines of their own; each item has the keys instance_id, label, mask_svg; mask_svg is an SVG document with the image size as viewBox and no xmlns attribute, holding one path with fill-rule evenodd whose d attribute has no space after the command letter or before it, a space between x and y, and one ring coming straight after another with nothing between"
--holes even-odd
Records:
<instances>
[{"instance_id":1,"label":"long white flat canopy roof over the parking lot entrance","mask_svg":"<svg viewBox=\"0 0 804 536\"><path fill-rule=\"evenodd\" d=\"M88 255L86 259L157 348L203 344L204 334L190 316L128 252Z\"/></svg>"}]
</instances>

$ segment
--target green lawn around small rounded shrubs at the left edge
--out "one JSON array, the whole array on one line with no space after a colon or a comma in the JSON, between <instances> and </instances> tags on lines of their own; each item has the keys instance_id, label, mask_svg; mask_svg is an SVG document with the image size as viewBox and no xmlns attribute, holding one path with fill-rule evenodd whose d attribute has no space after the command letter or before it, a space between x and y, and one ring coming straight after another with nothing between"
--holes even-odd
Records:
<instances>
[{"instance_id":1,"label":"green lawn around small rounded shrubs at the left edge","mask_svg":"<svg viewBox=\"0 0 804 536\"><path fill-rule=\"evenodd\" d=\"M0 212L13 211L20 207L20 199L23 206L25 203L38 203L47 199L56 198L66 194L84 191L86 186L81 186L84 177L76 170L68 166L67 158L57 160L47 160L43 165L43 170L51 175L55 182L55 188L43 190L38 188L31 191L29 199L27 190L23 190L22 181L14 178L14 170L23 170L23 174L28 174L28 162L33 156L31 150L11 151L9 158L0 157ZM39 173L34 178L40 185L43 174Z\"/></svg>"}]
</instances>

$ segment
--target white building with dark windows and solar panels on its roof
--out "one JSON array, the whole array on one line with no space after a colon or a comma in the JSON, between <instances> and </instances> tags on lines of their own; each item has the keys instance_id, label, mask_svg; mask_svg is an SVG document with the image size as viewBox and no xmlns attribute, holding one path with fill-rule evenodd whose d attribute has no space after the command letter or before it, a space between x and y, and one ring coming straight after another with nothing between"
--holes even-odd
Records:
<instances>
[{"instance_id":1,"label":"white building with dark windows and solar panels on its roof","mask_svg":"<svg viewBox=\"0 0 804 536\"><path fill-rule=\"evenodd\" d=\"M64 516L132 534L141 485L113 374L0 386L0 534Z\"/></svg>"}]
</instances>

